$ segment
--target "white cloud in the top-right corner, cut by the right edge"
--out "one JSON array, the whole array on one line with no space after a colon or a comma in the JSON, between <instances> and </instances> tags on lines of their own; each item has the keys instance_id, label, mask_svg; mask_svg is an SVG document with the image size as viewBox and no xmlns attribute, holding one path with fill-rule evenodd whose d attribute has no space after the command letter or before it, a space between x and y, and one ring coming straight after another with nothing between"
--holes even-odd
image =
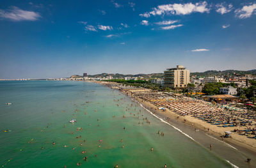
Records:
<instances>
[{"instance_id":1,"label":"white cloud in the top-right corner, cut by the right edge","mask_svg":"<svg viewBox=\"0 0 256 168\"><path fill-rule=\"evenodd\" d=\"M253 14L256 13L256 3L248 6L243 6L243 8L237 9L235 13L236 17L239 17L239 19L251 17Z\"/></svg>"}]
</instances>

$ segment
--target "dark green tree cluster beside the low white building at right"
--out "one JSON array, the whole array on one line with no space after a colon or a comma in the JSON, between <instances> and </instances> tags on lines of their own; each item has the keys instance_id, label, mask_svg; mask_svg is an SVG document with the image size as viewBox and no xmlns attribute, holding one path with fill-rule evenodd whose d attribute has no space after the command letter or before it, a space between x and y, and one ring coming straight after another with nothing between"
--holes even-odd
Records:
<instances>
[{"instance_id":1,"label":"dark green tree cluster beside the low white building at right","mask_svg":"<svg viewBox=\"0 0 256 168\"><path fill-rule=\"evenodd\" d=\"M206 95L220 95L220 88L225 88L227 86L233 86L236 88L236 85L234 83L221 83L221 82L216 82L216 83L209 83L205 84L202 92L205 93Z\"/></svg>"}]
</instances>

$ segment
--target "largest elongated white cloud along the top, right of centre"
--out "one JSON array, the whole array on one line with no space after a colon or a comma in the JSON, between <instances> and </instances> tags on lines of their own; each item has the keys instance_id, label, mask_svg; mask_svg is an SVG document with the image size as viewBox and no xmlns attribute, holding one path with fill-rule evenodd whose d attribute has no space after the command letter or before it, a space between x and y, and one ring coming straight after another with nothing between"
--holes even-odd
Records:
<instances>
[{"instance_id":1,"label":"largest elongated white cloud along the top, right of centre","mask_svg":"<svg viewBox=\"0 0 256 168\"><path fill-rule=\"evenodd\" d=\"M207 2L199 2L199 3L185 3L185 4L163 4L159 5L156 8L153 8L152 11L142 13L140 16L142 17L150 17L150 15L164 15L164 14L172 14L172 15L188 15L193 12L209 12L210 9L207 8Z\"/></svg>"}]
</instances>

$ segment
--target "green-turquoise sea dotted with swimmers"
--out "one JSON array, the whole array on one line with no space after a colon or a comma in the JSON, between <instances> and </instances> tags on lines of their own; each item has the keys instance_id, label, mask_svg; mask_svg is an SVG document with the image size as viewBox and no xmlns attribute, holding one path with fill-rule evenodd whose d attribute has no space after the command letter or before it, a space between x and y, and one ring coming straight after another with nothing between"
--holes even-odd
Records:
<instances>
[{"instance_id":1,"label":"green-turquoise sea dotted with swimmers","mask_svg":"<svg viewBox=\"0 0 256 168\"><path fill-rule=\"evenodd\" d=\"M91 82L1 81L0 119L2 167L231 167L127 96Z\"/></svg>"}]
</instances>

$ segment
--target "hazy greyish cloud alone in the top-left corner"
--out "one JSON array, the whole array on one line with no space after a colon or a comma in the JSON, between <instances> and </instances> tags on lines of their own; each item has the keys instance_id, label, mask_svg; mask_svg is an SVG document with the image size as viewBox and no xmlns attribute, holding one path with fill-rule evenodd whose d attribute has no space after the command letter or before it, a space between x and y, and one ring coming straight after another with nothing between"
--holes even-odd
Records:
<instances>
[{"instance_id":1,"label":"hazy greyish cloud alone in the top-left corner","mask_svg":"<svg viewBox=\"0 0 256 168\"><path fill-rule=\"evenodd\" d=\"M40 14L35 11L20 10L20 8L17 8L16 6L12 6L8 10L0 10L0 18L12 21L35 21L40 17Z\"/></svg>"}]
</instances>

